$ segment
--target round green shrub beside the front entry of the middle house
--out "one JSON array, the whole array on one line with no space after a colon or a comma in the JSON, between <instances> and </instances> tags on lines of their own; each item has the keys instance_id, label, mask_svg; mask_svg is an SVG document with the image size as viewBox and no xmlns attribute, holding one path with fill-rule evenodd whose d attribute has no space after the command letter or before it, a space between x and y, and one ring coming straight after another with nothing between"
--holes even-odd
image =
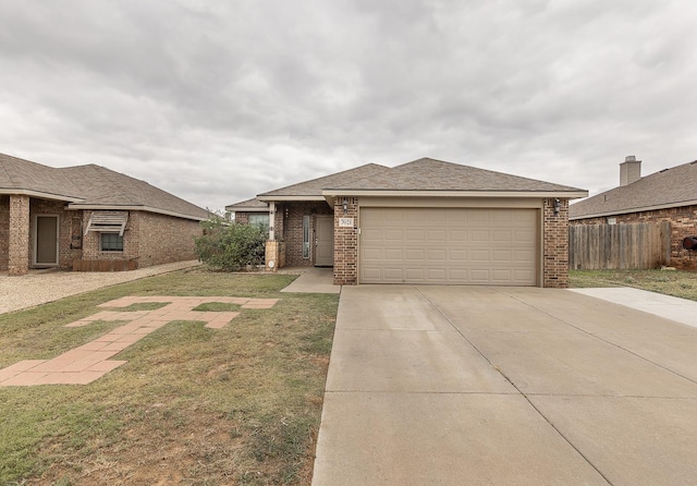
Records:
<instances>
[{"instance_id":1,"label":"round green shrub beside the front entry of the middle house","mask_svg":"<svg viewBox=\"0 0 697 486\"><path fill-rule=\"evenodd\" d=\"M265 264L267 229L240 224L213 215L201 222L204 234L195 239L198 259L210 267L236 271Z\"/></svg>"}]
</instances>

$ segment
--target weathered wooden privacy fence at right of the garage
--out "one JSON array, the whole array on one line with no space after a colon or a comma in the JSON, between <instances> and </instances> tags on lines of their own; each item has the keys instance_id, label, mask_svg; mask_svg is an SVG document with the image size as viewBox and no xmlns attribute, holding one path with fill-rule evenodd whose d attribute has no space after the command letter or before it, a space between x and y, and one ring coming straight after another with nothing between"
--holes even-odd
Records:
<instances>
[{"instance_id":1,"label":"weathered wooden privacy fence at right of the garage","mask_svg":"<svg viewBox=\"0 0 697 486\"><path fill-rule=\"evenodd\" d=\"M670 221L568 227L571 269L646 270L670 262Z\"/></svg>"}]
</instances>

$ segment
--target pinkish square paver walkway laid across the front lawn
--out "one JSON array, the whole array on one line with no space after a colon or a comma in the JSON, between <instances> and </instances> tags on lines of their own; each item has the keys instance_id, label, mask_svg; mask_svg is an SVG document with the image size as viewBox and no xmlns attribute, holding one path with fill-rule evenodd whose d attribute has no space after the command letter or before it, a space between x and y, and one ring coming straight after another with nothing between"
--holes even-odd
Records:
<instances>
[{"instance_id":1,"label":"pinkish square paver walkway laid across the front lawn","mask_svg":"<svg viewBox=\"0 0 697 486\"><path fill-rule=\"evenodd\" d=\"M68 351L52 360L26 360L0 369L0 387L30 385L86 385L126 363L109 360L143 337L172 320L200 320L206 327L220 329L240 315L239 312L194 311L201 304L220 302L239 304L241 308L271 308L278 299L216 296L127 296L100 304L100 307L127 307L142 303L168 303L155 311L102 311L65 325L87 326L97 320L126 320L125 324L91 342Z\"/></svg>"}]
</instances>

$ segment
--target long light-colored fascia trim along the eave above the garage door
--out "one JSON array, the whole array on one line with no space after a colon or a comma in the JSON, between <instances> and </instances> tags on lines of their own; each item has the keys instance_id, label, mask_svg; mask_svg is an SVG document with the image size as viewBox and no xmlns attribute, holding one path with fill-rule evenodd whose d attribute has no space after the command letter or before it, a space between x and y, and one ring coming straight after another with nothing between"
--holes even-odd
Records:
<instances>
[{"instance_id":1,"label":"long light-colored fascia trim along the eave above the garage door","mask_svg":"<svg viewBox=\"0 0 697 486\"><path fill-rule=\"evenodd\" d=\"M575 199L588 197L588 191L370 191L370 190L323 190L326 197L335 196L376 196L376 197L472 197L472 198L548 198L562 197Z\"/></svg>"}]
</instances>

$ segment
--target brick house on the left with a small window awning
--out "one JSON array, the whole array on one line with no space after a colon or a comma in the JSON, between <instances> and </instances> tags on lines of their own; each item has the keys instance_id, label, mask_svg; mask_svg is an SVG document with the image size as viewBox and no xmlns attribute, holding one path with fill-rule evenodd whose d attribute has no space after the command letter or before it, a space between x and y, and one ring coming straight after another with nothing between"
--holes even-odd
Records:
<instances>
[{"instance_id":1,"label":"brick house on the left with a small window awning","mask_svg":"<svg viewBox=\"0 0 697 486\"><path fill-rule=\"evenodd\" d=\"M195 259L208 212L100 166L0 154L0 271L120 270Z\"/></svg>"}]
</instances>

